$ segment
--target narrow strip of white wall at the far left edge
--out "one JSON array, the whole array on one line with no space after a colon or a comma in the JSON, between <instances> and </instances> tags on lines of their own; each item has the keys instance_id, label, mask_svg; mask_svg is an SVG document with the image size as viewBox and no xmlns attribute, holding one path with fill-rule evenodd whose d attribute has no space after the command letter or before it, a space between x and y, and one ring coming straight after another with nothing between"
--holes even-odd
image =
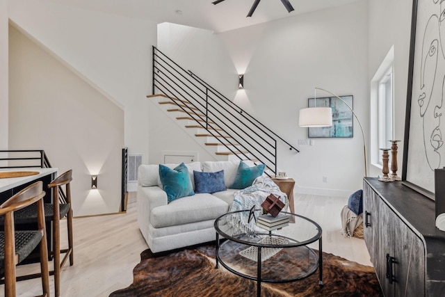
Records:
<instances>
[{"instance_id":1,"label":"narrow strip of white wall at the far left edge","mask_svg":"<svg viewBox=\"0 0 445 297\"><path fill-rule=\"evenodd\" d=\"M8 2L0 0L0 150L8 149Z\"/></svg>"}]
</instances>

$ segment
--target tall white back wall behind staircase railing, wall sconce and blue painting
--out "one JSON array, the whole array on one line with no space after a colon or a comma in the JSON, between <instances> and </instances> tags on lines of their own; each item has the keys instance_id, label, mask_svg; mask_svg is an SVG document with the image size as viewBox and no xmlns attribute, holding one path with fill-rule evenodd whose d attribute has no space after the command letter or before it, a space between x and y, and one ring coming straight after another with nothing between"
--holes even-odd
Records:
<instances>
[{"instance_id":1,"label":"tall white back wall behind staircase railing, wall sconce and blue painting","mask_svg":"<svg viewBox=\"0 0 445 297\"><path fill-rule=\"evenodd\" d=\"M295 154L280 145L278 159L280 170L296 179L297 191L348 195L362 187L364 175L357 122L354 138L316 138L312 146L298 146L298 139L307 138L307 129L298 127L298 111L307 107L316 86L354 95L367 133L367 8L367 1L359 1L216 35L170 25L158 45L300 149ZM236 89L237 73L245 73L243 91Z\"/></svg>"}]
</instances>

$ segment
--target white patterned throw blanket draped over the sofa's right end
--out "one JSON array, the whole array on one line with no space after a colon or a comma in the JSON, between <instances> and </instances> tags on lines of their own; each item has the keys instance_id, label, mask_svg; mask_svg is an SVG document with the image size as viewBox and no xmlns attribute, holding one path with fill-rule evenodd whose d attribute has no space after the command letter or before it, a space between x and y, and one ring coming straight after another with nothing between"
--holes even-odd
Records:
<instances>
[{"instance_id":1,"label":"white patterned throw blanket draped over the sofa's right end","mask_svg":"<svg viewBox=\"0 0 445 297\"><path fill-rule=\"evenodd\" d=\"M229 211L238 211L243 209L263 209L261 207L261 203L266 200L267 196L273 194L275 197L280 198L282 202L284 202L284 207L282 211L286 211L289 207L289 200L287 199L286 193L280 191L280 188L275 184L272 179L268 177L257 177L254 180L252 186L248 188L244 188L243 190L237 191L234 194L234 202L232 203L232 207L230 207ZM262 211L255 211L255 217L262 214ZM254 232L264 232L264 229L257 227L255 220L249 219L249 212L244 211L234 216L229 216L227 223L232 225L234 228L234 234L241 233L250 234Z\"/></svg>"}]
</instances>

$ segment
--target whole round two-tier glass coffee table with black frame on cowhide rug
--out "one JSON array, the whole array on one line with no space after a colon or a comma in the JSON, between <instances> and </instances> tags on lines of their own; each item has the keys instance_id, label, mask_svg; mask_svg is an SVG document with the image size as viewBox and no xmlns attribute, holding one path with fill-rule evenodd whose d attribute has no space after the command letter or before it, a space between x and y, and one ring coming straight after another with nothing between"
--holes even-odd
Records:
<instances>
[{"instance_id":1,"label":"whole round two-tier glass coffee table with black frame on cowhide rug","mask_svg":"<svg viewBox=\"0 0 445 297\"><path fill-rule=\"evenodd\" d=\"M257 296L261 296L261 282L302 280L317 269L318 285L323 286L320 225L305 216L281 212L289 216L289 225L268 231L255 223L260 214L260 209L241 210L215 220L216 268L221 264L236 275L256 280ZM227 240L220 243L220 236ZM318 253L308 246L315 241Z\"/></svg>"}]
</instances>

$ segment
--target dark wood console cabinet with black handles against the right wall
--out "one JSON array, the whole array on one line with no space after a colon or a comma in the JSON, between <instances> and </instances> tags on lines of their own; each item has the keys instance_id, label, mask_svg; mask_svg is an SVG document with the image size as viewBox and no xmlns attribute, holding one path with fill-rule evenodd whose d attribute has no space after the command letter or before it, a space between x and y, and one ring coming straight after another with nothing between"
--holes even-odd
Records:
<instances>
[{"instance_id":1,"label":"dark wood console cabinet with black handles against the right wall","mask_svg":"<svg viewBox=\"0 0 445 297\"><path fill-rule=\"evenodd\" d=\"M435 203L401 182L363 182L364 240L385 296L445 296Z\"/></svg>"}]
</instances>

